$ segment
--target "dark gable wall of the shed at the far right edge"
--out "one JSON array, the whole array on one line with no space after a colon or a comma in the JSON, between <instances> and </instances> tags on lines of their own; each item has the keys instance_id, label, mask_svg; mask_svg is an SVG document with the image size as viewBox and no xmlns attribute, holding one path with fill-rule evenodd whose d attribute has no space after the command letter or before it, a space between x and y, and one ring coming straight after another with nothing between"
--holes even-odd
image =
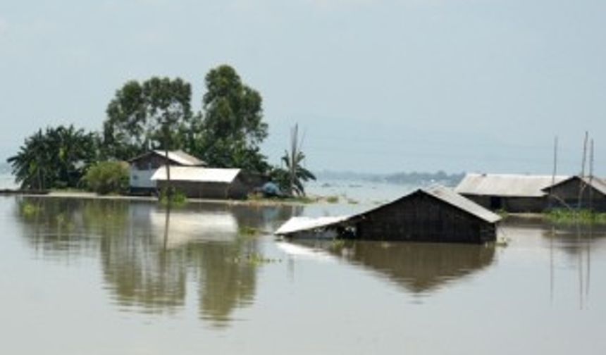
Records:
<instances>
[{"instance_id":1,"label":"dark gable wall of the shed at the far right edge","mask_svg":"<svg viewBox=\"0 0 606 355\"><path fill-rule=\"evenodd\" d=\"M579 206L580 185L581 180L573 179L553 187L551 193L557 198L552 199L552 208L565 208L566 205L577 208ZM606 196L593 187L586 185L581 195L581 208L590 208L590 198L591 207L595 211L606 212ZM562 204L562 201L565 204Z\"/></svg>"}]
</instances>

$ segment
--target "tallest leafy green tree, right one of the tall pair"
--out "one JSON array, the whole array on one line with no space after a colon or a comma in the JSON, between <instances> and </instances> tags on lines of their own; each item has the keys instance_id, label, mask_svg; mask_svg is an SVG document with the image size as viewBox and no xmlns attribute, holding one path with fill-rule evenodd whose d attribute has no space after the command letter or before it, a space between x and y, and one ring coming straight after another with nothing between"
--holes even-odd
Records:
<instances>
[{"instance_id":1,"label":"tallest leafy green tree, right one of the tall pair","mask_svg":"<svg viewBox=\"0 0 606 355\"><path fill-rule=\"evenodd\" d=\"M197 116L190 151L210 166L265 172L269 166L259 144L267 137L259 92L242 83L230 66L206 74L204 114Z\"/></svg>"}]
</instances>

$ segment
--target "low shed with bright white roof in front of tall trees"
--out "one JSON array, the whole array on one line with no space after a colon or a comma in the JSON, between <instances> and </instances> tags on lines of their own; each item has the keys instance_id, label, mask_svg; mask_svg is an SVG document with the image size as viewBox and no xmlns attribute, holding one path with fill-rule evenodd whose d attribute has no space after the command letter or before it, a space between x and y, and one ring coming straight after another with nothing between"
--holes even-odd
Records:
<instances>
[{"instance_id":1,"label":"low shed with bright white roof in front of tall trees","mask_svg":"<svg viewBox=\"0 0 606 355\"><path fill-rule=\"evenodd\" d=\"M240 169L171 166L171 186L195 199L245 199L249 186L242 181ZM166 167L152 175L158 189L168 187Z\"/></svg>"}]
</instances>

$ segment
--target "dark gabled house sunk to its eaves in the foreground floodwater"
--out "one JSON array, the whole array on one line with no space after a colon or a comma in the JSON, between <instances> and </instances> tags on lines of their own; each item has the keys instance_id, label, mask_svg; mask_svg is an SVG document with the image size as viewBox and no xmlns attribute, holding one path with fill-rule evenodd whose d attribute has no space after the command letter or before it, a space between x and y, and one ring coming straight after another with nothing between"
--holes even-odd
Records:
<instances>
[{"instance_id":1,"label":"dark gabled house sunk to its eaves in the foreground floodwater","mask_svg":"<svg viewBox=\"0 0 606 355\"><path fill-rule=\"evenodd\" d=\"M438 186L418 189L354 216L291 218L276 235L483 243L496 239L500 219L451 189Z\"/></svg>"}]
</instances>

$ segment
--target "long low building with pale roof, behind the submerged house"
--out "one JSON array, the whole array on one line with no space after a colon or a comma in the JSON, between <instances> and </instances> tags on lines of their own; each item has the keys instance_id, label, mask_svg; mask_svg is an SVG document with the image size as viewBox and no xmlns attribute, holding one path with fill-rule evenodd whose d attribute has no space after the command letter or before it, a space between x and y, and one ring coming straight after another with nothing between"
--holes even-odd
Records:
<instances>
[{"instance_id":1,"label":"long low building with pale roof, behind the submerged house","mask_svg":"<svg viewBox=\"0 0 606 355\"><path fill-rule=\"evenodd\" d=\"M518 212L543 212L548 208L545 189L569 177L521 174L469 173L455 192L490 210Z\"/></svg>"}]
</instances>

